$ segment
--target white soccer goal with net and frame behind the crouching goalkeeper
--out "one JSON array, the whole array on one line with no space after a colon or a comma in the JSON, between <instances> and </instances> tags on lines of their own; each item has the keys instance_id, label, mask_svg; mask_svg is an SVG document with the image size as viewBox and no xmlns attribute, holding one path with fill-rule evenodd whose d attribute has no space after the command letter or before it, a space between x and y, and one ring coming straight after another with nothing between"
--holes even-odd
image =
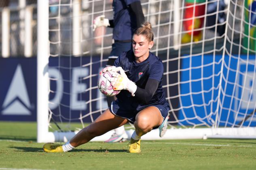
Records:
<instances>
[{"instance_id":1,"label":"white soccer goal with net and frame behind the crouching goalkeeper","mask_svg":"<svg viewBox=\"0 0 256 170\"><path fill-rule=\"evenodd\" d=\"M107 109L97 80L113 29L93 31L92 25L100 15L113 19L112 1L49 0L49 86L41 94L49 94L49 114L38 122L47 124L50 137L38 137L39 142L67 141ZM152 130L142 139L254 138L256 2L141 0L141 5L154 31L151 52L164 64L163 88L171 106L165 136ZM128 135L130 129L126 126Z\"/></svg>"}]
</instances>

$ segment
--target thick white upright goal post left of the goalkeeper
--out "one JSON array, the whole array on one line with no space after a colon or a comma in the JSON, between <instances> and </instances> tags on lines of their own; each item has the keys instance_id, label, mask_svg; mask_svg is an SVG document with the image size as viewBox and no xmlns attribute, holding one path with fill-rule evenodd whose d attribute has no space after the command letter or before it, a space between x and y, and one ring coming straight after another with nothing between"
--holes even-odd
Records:
<instances>
[{"instance_id":1,"label":"thick white upright goal post left of the goalkeeper","mask_svg":"<svg viewBox=\"0 0 256 170\"><path fill-rule=\"evenodd\" d=\"M37 142L54 141L48 132L49 1L37 2Z\"/></svg>"}]
</instances>

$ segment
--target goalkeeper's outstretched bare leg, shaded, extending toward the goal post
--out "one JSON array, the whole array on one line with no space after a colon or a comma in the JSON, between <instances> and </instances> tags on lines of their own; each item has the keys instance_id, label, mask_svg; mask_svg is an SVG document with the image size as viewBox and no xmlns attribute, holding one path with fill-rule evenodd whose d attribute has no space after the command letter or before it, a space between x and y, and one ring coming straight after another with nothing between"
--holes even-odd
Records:
<instances>
[{"instance_id":1,"label":"goalkeeper's outstretched bare leg, shaded, extending toward the goal post","mask_svg":"<svg viewBox=\"0 0 256 170\"><path fill-rule=\"evenodd\" d=\"M109 109L107 109L94 122L92 122L92 124L80 130L70 140L70 144L73 147L78 147L79 145L89 142L94 137L105 134L106 132L123 126L126 123L128 123L127 119L113 115Z\"/></svg>"}]
</instances>

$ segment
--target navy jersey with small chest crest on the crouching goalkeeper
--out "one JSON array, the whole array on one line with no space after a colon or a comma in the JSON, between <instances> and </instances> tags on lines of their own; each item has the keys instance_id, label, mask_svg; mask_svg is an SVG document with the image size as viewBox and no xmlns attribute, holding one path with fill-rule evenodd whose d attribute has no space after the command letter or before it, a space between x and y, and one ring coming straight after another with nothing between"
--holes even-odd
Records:
<instances>
[{"instance_id":1,"label":"navy jersey with small chest crest on the crouching goalkeeper","mask_svg":"<svg viewBox=\"0 0 256 170\"><path fill-rule=\"evenodd\" d=\"M135 97L132 97L128 90L122 90L117 94L117 100L121 103L122 108L130 111L141 110L151 105L163 105L169 108L162 89L162 76L164 73L164 66L159 57L149 52L149 57L141 62L135 61L134 53L132 50L123 52L114 63L115 67L122 67L127 77L135 82L135 84L145 89L148 79L154 79L159 82L158 88L148 103L141 103Z\"/></svg>"}]
</instances>

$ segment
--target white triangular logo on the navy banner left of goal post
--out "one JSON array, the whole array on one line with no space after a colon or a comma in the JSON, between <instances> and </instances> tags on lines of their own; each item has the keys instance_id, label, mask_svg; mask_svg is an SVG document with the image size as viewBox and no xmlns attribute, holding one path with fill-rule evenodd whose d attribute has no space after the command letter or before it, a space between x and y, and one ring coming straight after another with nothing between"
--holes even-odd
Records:
<instances>
[{"instance_id":1,"label":"white triangular logo on the navy banner left of goal post","mask_svg":"<svg viewBox=\"0 0 256 170\"><path fill-rule=\"evenodd\" d=\"M2 115L31 115L31 104L21 65L17 66L2 108Z\"/></svg>"}]
</instances>

